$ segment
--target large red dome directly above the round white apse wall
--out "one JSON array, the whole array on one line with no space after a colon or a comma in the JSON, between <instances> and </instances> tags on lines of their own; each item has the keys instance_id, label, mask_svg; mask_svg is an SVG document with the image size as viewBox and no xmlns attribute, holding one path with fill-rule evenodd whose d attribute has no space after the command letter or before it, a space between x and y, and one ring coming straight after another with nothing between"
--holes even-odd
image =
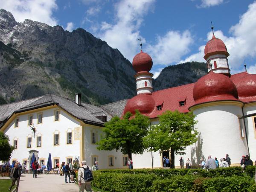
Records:
<instances>
[{"instance_id":1,"label":"large red dome directly above the round white apse wall","mask_svg":"<svg viewBox=\"0 0 256 192\"><path fill-rule=\"evenodd\" d=\"M221 73L210 71L198 79L194 86L195 104L220 100L237 100L237 90L233 82Z\"/></svg>"}]
</instances>

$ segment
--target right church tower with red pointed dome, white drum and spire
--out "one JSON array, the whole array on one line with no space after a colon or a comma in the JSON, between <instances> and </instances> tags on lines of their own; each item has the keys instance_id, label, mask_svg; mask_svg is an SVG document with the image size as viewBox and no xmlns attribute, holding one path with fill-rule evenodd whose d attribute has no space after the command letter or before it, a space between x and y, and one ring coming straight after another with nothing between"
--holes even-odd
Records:
<instances>
[{"instance_id":1,"label":"right church tower with red pointed dome, white drum and spire","mask_svg":"<svg viewBox=\"0 0 256 192\"><path fill-rule=\"evenodd\" d=\"M207 61L208 72L211 70L212 64L212 71L214 73L222 73L230 76L227 47L221 39L215 37L213 26L211 29L212 39L209 40L204 47L204 59Z\"/></svg>"}]
</instances>

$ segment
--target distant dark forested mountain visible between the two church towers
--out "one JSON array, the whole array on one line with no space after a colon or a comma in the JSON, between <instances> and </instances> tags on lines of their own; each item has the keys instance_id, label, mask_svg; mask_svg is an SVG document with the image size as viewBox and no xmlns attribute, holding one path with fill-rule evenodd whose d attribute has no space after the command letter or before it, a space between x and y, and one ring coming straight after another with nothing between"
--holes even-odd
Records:
<instances>
[{"instance_id":1,"label":"distant dark forested mountain visible between the two church towers","mask_svg":"<svg viewBox=\"0 0 256 192\"><path fill-rule=\"evenodd\" d=\"M204 62L186 62L165 67L157 79L153 81L154 90L162 90L183 84L196 82L207 74L207 65Z\"/></svg>"}]
</instances>

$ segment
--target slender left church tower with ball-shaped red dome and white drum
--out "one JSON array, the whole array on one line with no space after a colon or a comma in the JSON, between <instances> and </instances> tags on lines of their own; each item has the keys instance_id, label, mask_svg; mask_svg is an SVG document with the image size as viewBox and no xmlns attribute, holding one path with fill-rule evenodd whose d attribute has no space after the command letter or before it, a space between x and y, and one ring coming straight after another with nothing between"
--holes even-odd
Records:
<instances>
[{"instance_id":1,"label":"slender left church tower with ball-shaped red dome and white drum","mask_svg":"<svg viewBox=\"0 0 256 192\"><path fill-rule=\"evenodd\" d=\"M140 44L140 46L142 47L142 44ZM152 65L152 58L147 53L143 52L141 48L140 53L135 55L132 61L132 66L137 72L134 76L136 79L137 95L140 93L151 94L153 92L153 74L149 73Z\"/></svg>"}]
</instances>

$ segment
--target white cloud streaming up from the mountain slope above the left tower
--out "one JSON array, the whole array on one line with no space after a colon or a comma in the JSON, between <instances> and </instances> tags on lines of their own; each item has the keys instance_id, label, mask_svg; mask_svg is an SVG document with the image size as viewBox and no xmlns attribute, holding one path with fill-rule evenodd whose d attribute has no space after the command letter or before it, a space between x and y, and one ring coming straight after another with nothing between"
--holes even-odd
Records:
<instances>
[{"instance_id":1,"label":"white cloud streaming up from the mountain slope above the left tower","mask_svg":"<svg viewBox=\"0 0 256 192\"><path fill-rule=\"evenodd\" d=\"M154 0L122 0L115 4L115 23L106 25L103 22L99 38L105 40L111 47L118 48L126 58L132 61L139 51L137 39L141 36L139 28L143 16L153 9L153 3Z\"/></svg>"}]
</instances>

